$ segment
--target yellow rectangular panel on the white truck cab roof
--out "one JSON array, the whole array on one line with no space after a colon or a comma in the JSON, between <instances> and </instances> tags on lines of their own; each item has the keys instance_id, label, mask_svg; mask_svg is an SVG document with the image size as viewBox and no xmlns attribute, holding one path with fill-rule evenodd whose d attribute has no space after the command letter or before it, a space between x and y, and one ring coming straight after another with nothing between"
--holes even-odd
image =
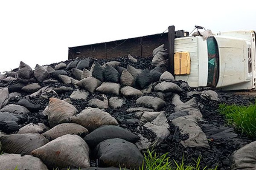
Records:
<instances>
[{"instance_id":1,"label":"yellow rectangular panel on the white truck cab roof","mask_svg":"<svg viewBox=\"0 0 256 170\"><path fill-rule=\"evenodd\" d=\"M174 54L174 74L190 74L190 55L189 52L182 51Z\"/></svg>"}]
</instances>

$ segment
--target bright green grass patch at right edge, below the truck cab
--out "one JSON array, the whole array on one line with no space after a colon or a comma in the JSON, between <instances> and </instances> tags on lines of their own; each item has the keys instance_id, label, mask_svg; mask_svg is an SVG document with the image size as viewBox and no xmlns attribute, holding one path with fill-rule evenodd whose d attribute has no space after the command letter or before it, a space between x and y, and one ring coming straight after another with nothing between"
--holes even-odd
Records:
<instances>
[{"instance_id":1,"label":"bright green grass patch at right edge, below the truck cab","mask_svg":"<svg viewBox=\"0 0 256 170\"><path fill-rule=\"evenodd\" d=\"M220 104L219 112L226 117L228 125L251 138L256 137L256 104L248 106Z\"/></svg>"}]
</instances>

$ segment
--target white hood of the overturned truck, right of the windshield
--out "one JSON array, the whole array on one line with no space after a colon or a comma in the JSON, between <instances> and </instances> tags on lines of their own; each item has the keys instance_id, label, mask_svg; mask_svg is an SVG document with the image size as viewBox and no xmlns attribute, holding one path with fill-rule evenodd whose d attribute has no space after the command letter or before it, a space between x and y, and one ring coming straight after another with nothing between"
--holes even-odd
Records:
<instances>
[{"instance_id":1,"label":"white hood of the overturned truck, right of the windshield","mask_svg":"<svg viewBox=\"0 0 256 170\"><path fill-rule=\"evenodd\" d=\"M223 90L251 89L248 76L247 43L244 39L215 36L219 50L219 80L217 88Z\"/></svg>"}]
</instances>

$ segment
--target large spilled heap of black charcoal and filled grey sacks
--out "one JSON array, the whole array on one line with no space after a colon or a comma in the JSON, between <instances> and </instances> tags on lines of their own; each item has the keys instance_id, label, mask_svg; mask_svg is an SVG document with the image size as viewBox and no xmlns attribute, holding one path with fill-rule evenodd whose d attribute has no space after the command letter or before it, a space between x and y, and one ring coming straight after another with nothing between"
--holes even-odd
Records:
<instances>
[{"instance_id":1,"label":"large spilled heap of black charcoal and filled grey sacks","mask_svg":"<svg viewBox=\"0 0 256 170\"><path fill-rule=\"evenodd\" d=\"M201 166L220 170L255 168L243 161L255 144L218 113L220 102L244 100L175 81L163 47L153 54L73 59L35 70L20 62L1 74L1 165L139 169L143 153L154 148L176 161L201 155Z\"/></svg>"}]
</instances>

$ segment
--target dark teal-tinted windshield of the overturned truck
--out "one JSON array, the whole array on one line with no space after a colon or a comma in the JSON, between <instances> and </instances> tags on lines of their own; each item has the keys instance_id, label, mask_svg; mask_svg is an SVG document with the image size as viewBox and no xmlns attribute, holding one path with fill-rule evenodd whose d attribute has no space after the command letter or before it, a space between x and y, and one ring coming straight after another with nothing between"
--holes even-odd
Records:
<instances>
[{"instance_id":1,"label":"dark teal-tinted windshield of the overturned truck","mask_svg":"<svg viewBox=\"0 0 256 170\"><path fill-rule=\"evenodd\" d=\"M208 49L208 79L207 87L215 88L218 83L219 55L218 44L214 37L207 39Z\"/></svg>"}]
</instances>

